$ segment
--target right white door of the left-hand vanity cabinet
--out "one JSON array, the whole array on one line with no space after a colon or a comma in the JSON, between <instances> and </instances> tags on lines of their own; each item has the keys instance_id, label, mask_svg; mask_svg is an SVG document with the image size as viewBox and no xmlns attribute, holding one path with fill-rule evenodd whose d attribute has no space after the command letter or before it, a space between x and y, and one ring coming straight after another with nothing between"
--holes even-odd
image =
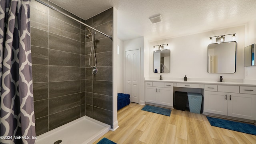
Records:
<instances>
[{"instance_id":1,"label":"right white door of the left-hand vanity cabinet","mask_svg":"<svg viewBox=\"0 0 256 144\"><path fill-rule=\"evenodd\" d=\"M173 88L158 88L158 104L173 106Z\"/></svg>"}]
</instances>

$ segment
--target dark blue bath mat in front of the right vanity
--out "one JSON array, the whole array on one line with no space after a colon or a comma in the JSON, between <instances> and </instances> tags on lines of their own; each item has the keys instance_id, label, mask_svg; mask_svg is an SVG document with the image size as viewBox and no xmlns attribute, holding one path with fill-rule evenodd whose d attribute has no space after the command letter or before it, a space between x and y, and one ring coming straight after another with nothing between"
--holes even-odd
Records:
<instances>
[{"instance_id":1,"label":"dark blue bath mat in front of the right vanity","mask_svg":"<svg viewBox=\"0 0 256 144\"><path fill-rule=\"evenodd\" d=\"M244 124L242 122L234 122L230 120L222 120L219 118L212 118L206 116L212 126L226 128L228 130L234 130L237 132L243 132L246 134L256 135L256 126L252 124Z\"/></svg>"}]
</instances>

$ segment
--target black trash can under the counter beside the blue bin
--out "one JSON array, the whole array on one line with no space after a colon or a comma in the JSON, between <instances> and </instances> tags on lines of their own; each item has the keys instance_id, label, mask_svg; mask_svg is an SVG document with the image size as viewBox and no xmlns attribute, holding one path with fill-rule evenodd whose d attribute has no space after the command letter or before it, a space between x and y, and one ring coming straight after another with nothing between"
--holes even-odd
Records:
<instances>
[{"instance_id":1,"label":"black trash can under the counter beside the blue bin","mask_svg":"<svg viewBox=\"0 0 256 144\"><path fill-rule=\"evenodd\" d=\"M185 111L187 100L188 100L188 93L187 92L175 92L175 106L176 110L183 110Z\"/></svg>"}]
</instances>

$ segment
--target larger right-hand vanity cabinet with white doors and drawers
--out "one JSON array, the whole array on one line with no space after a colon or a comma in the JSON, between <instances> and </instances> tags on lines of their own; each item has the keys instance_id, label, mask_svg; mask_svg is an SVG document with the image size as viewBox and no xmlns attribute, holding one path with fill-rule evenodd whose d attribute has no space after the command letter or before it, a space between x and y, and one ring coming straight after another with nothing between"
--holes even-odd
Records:
<instances>
[{"instance_id":1,"label":"larger right-hand vanity cabinet with white doors and drawers","mask_svg":"<svg viewBox=\"0 0 256 144\"><path fill-rule=\"evenodd\" d=\"M255 87L205 85L204 112L256 120L255 110Z\"/></svg>"}]
</instances>

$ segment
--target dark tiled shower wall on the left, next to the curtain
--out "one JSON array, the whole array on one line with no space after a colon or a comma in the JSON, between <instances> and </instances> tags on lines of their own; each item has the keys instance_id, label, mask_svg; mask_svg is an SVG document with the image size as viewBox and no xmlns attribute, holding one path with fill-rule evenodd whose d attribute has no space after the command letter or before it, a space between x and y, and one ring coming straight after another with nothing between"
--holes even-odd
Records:
<instances>
[{"instance_id":1,"label":"dark tiled shower wall on the left, next to the curtain","mask_svg":"<svg viewBox=\"0 0 256 144\"><path fill-rule=\"evenodd\" d=\"M30 20L36 135L40 135L85 115L85 27L34 0Z\"/></svg>"}]
</instances>

